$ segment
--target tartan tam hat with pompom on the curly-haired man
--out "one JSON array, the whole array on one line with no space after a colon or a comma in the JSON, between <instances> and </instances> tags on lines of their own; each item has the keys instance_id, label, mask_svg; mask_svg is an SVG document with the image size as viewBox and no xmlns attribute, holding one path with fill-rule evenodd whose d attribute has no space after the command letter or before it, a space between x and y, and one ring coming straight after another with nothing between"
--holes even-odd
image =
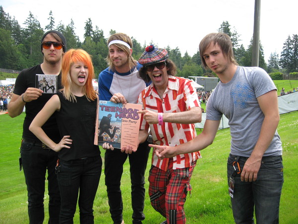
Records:
<instances>
[{"instance_id":1,"label":"tartan tam hat with pompom on the curly-haired man","mask_svg":"<svg viewBox=\"0 0 298 224\"><path fill-rule=\"evenodd\" d=\"M141 65L151 65L158 62L163 62L168 58L166 49L154 47L154 45L149 45L146 47L144 53L139 59Z\"/></svg>"}]
</instances>

